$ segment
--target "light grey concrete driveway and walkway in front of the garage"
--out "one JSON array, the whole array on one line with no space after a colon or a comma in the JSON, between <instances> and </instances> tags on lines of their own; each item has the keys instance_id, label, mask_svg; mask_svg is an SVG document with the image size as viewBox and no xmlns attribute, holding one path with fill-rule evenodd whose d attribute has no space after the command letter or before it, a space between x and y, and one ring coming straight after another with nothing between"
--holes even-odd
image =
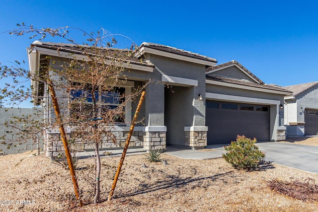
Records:
<instances>
[{"instance_id":1,"label":"light grey concrete driveway and walkway in front of the garage","mask_svg":"<svg viewBox=\"0 0 318 212\"><path fill-rule=\"evenodd\" d=\"M318 173L318 146L282 142L257 142L259 149L265 151L265 160L305 171ZM165 153L184 159L212 159L222 157L223 145L208 145L214 151L182 149L167 146Z\"/></svg>"}]
</instances>

